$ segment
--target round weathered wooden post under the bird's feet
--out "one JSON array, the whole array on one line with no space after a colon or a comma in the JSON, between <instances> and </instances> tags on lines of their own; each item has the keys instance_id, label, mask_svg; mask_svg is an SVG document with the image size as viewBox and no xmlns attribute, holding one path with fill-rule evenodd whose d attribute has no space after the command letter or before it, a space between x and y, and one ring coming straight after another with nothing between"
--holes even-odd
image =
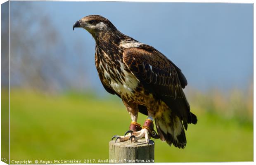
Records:
<instances>
[{"instance_id":1,"label":"round weathered wooden post under the bird's feet","mask_svg":"<svg viewBox=\"0 0 256 165\"><path fill-rule=\"evenodd\" d=\"M153 163L154 141L139 139L136 142L109 141L109 163Z\"/></svg>"}]
</instances>

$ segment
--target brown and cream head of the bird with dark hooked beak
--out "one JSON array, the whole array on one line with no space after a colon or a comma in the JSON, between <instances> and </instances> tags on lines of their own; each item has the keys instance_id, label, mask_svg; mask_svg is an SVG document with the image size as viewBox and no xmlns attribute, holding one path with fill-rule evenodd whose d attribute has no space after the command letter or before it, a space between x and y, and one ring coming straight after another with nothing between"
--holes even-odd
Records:
<instances>
[{"instance_id":1,"label":"brown and cream head of the bird with dark hooked beak","mask_svg":"<svg viewBox=\"0 0 256 165\"><path fill-rule=\"evenodd\" d=\"M116 30L116 27L108 19L100 15L89 15L83 17L73 24L73 30L75 28L85 28L93 37L97 36L101 32Z\"/></svg>"}]
</instances>

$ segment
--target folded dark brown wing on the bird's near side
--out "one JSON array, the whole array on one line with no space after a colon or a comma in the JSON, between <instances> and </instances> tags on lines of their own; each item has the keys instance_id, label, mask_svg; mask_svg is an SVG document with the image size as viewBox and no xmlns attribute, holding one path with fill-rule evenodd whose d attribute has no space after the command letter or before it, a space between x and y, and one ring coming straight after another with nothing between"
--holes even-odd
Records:
<instances>
[{"instance_id":1,"label":"folded dark brown wing on the bird's near side","mask_svg":"<svg viewBox=\"0 0 256 165\"><path fill-rule=\"evenodd\" d=\"M183 120L187 129L187 123L192 123L192 117L182 90L187 80L180 69L149 46L127 48L123 52L123 62L149 92L164 101Z\"/></svg>"}]
</instances>

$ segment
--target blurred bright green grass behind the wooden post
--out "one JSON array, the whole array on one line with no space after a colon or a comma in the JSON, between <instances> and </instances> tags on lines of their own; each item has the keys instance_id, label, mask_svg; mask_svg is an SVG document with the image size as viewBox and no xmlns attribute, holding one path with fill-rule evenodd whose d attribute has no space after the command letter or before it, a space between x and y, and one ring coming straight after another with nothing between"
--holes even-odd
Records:
<instances>
[{"instance_id":1,"label":"blurred bright green grass behind the wooden post","mask_svg":"<svg viewBox=\"0 0 256 165\"><path fill-rule=\"evenodd\" d=\"M11 160L107 159L108 142L124 134L130 116L115 96L49 96L12 91ZM193 108L193 107L192 107ZM155 141L155 162L253 161L253 125L200 113L185 149ZM140 114L143 123L146 116Z\"/></svg>"}]
</instances>

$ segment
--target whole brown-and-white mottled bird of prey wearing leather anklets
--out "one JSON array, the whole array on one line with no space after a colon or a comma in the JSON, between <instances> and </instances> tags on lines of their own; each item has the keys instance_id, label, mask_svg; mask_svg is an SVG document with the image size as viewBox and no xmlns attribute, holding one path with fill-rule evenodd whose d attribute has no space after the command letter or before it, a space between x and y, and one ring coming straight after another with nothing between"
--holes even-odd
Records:
<instances>
[{"instance_id":1,"label":"whole brown-and-white mottled bird of prey wearing leather anklets","mask_svg":"<svg viewBox=\"0 0 256 165\"><path fill-rule=\"evenodd\" d=\"M197 123L190 112L183 88L187 80L181 70L154 47L121 33L106 18L89 15L76 21L95 39L95 65L103 87L123 101L132 122L116 141L160 138L171 146L186 146L187 124ZM142 127L138 113L147 115ZM156 131L153 121L155 120Z\"/></svg>"}]
</instances>

